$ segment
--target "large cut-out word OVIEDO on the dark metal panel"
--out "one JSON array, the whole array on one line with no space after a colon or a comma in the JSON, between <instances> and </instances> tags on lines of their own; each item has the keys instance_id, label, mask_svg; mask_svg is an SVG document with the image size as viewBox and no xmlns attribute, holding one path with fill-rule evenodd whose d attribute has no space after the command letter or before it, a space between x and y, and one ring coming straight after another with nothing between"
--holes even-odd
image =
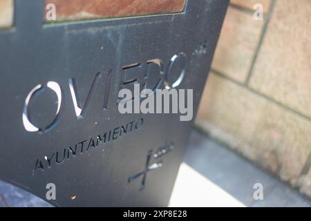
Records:
<instances>
[{"instance_id":1,"label":"large cut-out word OVIEDO on the dark metal panel","mask_svg":"<svg viewBox=\"0 0 311 221\"><path fill-rule=\"evenodd\" d=\"M139 90L144 90L144 92L148 92L150 96L151 93L156 93L156 91L160 88L162 83L164 83L164 90L168 91L173 88L176 88L180 86L182 83L182 80L185 77L185 73L188 66L188 58L187 55L184 52L180 52L177 55L173 55L171 57L171 60L169 61L169 64L167 68L164 67L164 64L161 59L151 59L142 63L134 63L129 64L126 66L122 66L122 77L120 79L120 91L126 89L126 92L123 91L123 97L124 95L128 95L129 90L130 92L133 91L133 94L135 95L135 91L137 90L137 87L135 85L139 84L141 88ZM88 106L90 104L90 101L96 91L98 82L102 79L104 79L104 94L102 95L103 103L102 103L102 111L109 111L109 99L111 97L111 85L115 85L112 83L112 76L113 76L113 70L109 70L109 72L106 73L96 73L95 77L93 78L93 82L91 84L91 88L88 90L88 95L86 96L86 100L84 103L79 99L79 88L77 87L75 78L68 79L68 93L70 93L72 98L72 104L75 110L75 114L77 117L77 120L83 120L86 114L86 111L88 110ZM176 78L177 77L177 78ZM171 78L176 79L175 81L170 80ZM173 82L171 82L173 81ZM57 111L55 113L55 117L53 117L53 120L46 126L35 126L35 123L33 123L33 116L30 117L30 113L32 112L34 106L32 106L33 100L36 99L37 95L41 94L40 92L46 89L52 90L57 95ZM81 92L80 92L81 93ZM122 94L122 93L121 93ZM161 93L159 93L161 95ZM168 96L170 94L175 93L168 93ZM189 93L188 93L189 94ZM192 90L191 90L191 98L187 99L187 102L192 102ZM118 97L119 93L117 95L112 95L115 97L116 105L124 105L124 103L129 103L129 101L124 102L124 99L120 100ZM167 99L165 98L165 95L167 93L162 93L164 96L164 113L168 113L167 108L165 107L167 104ZM182 96L183 95L183 96ZM182 95L179 96L185 98L185 91L182 91ZM147 96L142 96L147 97ZM140 97L140 99L142 98ZM23 126L28 132L35 132L35 133L47 133L58 124L59 120L62 119L62 111L64 110L64 88L59 85L56 81L48 81L46 84L38 84L34 88L30 90L28 95L26 96L25 103L23 106L23 113L22 113L22 120L23 120ZM135 101L134 97L127 97L127 99L130 99L131 102ZM158 99L158 98L157 98ZM176 99L178 99L176 97ZM172 100L174 100L174 97L172 97ZM46 100L46 102L49 102ZM50 102L53 102L50 100ZM149 99L150 103L150 99ZM172 102L172 108L173 113L176 112L176 104ZM185 102L182 102L182 105L179 105L180 113L185 114L187 112L187 108L192 109L192 104L188 104L187 108L185 108L184 105ZM66 103L67 104L67 103ZM158 105L158 104L157 104ZM169 104L168 104L169 105ZM135 104L134 104L135 107ZM162 108L162 107L161 107ZM121 108L122 109L122 108ZM123 109L122 109L123 110ZM158 110L158 108L157 108ZM120 108L119 108L120 111ZM120 111L120 113L130 113L131 111ZM191 113L187 114L187 116L180 117L180 120L191 120L192 118L192 111ZM137 113L137 111L134 111L134 113ZM143 110L142 113L155 113L153 111L145 111ZM156 113L160 113L160 111L156 111Z\"/></svg>"}]
</instances>

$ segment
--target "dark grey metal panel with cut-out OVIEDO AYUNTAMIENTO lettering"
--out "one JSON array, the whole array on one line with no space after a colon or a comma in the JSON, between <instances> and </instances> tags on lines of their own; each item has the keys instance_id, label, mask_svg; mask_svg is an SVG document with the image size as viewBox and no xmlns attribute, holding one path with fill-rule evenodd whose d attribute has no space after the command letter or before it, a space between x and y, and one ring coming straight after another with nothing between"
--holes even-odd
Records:
<instances>
[{"instance_id":1,"label":"dark grey metal panel with cut-out OVIEDO AYUNTAMIENTO lettering","mask_svg":"<svg viewBox=\"0 0 311 221\"><path fill-rule=\"evenodd\" d=\"M15 27L0 32L0 178L43 199L52 182L57 200L49 202L59 206L166 206L193 121L180 122L173 114L120 114L122 67L161 59L167 68L173 55L184 52L189 65L178 88L194 89L196 113L227 4L189 0L184 12L173 15L44 24L44 1L17 0ZM84 119L77 119L68 80L75 79L84 102L97 73ZM48 81L62 88L59 119L47 132L28 132L22 122L26 97ZM30 110L36 125L44 128L53 119L55 102L53 91L37 96ZM86 151L98 135L133 121L137 129ZM78 150L84 144L84 150L73 156L68 147L76 144ZM143 188L143 174L130 178L147 162L158 162L153 153L170 144L174 148L162 157L160 168L146 173ZM50 166L46 158L52 158Z\"/></svg>"}]
</instances>

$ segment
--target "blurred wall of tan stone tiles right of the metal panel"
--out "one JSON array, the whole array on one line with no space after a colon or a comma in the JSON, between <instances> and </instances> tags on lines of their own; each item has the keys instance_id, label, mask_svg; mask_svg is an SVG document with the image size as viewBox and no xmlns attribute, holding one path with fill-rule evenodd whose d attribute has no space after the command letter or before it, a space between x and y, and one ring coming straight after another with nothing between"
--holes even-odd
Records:
<instances>
[{"instance_id":1,"label":"blurred wall of tan stone tiles right of the metal panel","mask_svg":"<svg viewBox=\"0 0 311 221\"><path fill-rule=\"evenodd\" d=\"M311 198L310 19L309 0L232 0L196 126Z\"/></svg>"}]
</instances>

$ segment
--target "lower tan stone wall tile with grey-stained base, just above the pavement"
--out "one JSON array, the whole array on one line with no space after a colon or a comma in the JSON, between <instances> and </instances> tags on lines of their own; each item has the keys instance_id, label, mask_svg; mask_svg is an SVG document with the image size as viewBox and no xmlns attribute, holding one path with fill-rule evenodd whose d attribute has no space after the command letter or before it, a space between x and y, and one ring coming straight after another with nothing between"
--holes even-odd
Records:
<instances>
[{"instance_id":1,"label":"lower tan stone wall tile with grey-stained base, just above the pavement","mask_svg":"<svg viewBox=\"0 0 311 221\"><path fill-rule=\"evenodd\" d=\"M196 124L291 184L311 151L311 122L214 73Z\"/></svg>"}]
</instances>

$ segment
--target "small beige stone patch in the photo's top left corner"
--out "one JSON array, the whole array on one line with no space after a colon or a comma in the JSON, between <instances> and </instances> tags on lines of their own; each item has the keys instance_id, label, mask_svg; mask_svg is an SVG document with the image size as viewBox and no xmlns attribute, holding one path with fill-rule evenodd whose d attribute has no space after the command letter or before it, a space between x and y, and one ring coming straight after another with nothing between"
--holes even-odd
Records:
<instances>
[{"instance_id":1,"label":"small beige stone patch in the photo's top left corner","mask_svg":"<svg viewBox=\"0 0 311 221\"><path fill-rule=\"evenodd\" d=\"M0 28L10 27L13 24L13 0L0 1Z\"/></svg>"}]
</instances>

